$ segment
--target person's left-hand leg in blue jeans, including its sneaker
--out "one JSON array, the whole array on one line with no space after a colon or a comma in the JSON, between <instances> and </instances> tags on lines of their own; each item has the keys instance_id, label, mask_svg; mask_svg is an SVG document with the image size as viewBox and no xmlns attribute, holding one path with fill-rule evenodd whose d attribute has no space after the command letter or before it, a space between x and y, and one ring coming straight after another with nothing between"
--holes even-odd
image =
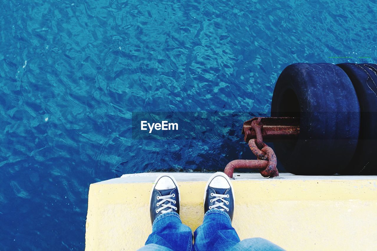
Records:
<instances>
[{"instance_id":1,"label":"person's left-hand leg in blue jeans, including its sneaker","mask_svg":"<svg viewBox=\"0 0 377 251\"><path fill-rule=\"evenodd\" d=\"M192 231L179 218L180 196L172 176L159 176L150 197L152 233L139 250L192 250Z\"/></svg>"}]
</instances>

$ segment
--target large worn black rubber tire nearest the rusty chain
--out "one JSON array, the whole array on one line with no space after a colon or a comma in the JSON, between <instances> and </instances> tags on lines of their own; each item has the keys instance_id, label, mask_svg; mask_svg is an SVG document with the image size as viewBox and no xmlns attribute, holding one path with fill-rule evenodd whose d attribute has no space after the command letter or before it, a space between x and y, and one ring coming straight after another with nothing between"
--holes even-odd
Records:
<instances>
[{"instance_id":1,"label":"large worn black rubber tire nearest the rusty chain","mask_svg":"<svg viewBox=\"0 0 377 251\"><path fill-rule=\"evenodd\" d=\"M297 140L274 142L277 158L293 174L340 173L351 160L360 126L359 102L335 64L287 66L274 89L271 116L299 116Z\"/></svg>"}]
</instances>

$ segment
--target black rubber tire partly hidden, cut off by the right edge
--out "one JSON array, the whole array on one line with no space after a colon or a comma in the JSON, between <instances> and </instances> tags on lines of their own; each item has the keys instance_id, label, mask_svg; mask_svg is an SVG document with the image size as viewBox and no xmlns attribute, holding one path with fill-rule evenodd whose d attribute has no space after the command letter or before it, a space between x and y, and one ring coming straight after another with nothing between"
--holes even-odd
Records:
<instances>
[{"instance_id":1,"label":"black rubber tire partly hidden, cut off by the right edge","mask_svg":"<svg viewBox=\"0 0 377 251\"><path fill-rule=\"evenodd\" d=\"M342 174L377 174L377 64L337 64L348 75L360 104L356 152Z\"/></svg>"}]
</instances>

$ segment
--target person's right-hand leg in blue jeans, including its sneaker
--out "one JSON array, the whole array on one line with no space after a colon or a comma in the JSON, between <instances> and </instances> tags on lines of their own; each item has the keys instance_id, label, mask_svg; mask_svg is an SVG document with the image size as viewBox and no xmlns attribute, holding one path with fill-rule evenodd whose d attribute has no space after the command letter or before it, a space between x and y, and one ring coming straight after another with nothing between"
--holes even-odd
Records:
<instances>
[{"instance_id":1,"label":"person's right-hand leg in blue jeans, including its sneaker","mask_svg":"<svg viewBox=\"0 0 377 251\"><path fill-rule=\"evenodd\" d=\"M262 238L240 242L231 225L234 193L228 176L215 173L209 179L204 194L203 224L194 232L195 250L284 250Z\"/></svg>"}]
</instances>

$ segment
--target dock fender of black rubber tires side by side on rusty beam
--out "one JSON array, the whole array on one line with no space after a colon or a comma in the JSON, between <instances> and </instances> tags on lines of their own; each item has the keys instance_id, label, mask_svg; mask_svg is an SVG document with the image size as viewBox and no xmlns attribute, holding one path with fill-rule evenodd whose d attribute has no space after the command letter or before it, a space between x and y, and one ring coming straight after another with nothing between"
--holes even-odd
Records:
<instances>
[{"instance_id":1,"label":"dock fender of black rubber tires side by side on rusty beam","mask_svg":"<svg viewBox=\"0 0 377 251\"><path fill-rule=\"evenodd\" d=\"M287 66L271 116L300 118L299 138L274 142L293 174L377 174L377 65Z\"/></svg>"}]
</instances>

